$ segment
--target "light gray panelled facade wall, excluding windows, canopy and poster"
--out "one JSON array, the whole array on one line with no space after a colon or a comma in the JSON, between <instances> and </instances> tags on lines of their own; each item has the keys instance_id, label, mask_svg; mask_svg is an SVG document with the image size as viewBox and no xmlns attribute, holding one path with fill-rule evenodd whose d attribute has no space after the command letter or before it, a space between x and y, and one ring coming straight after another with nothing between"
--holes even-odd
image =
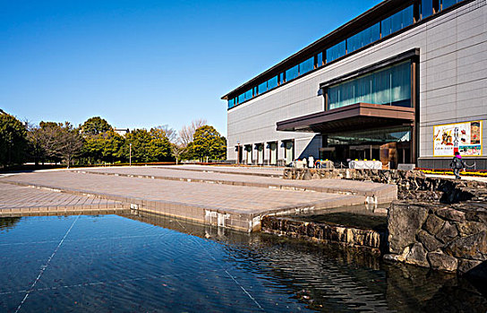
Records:
<instances>
[{"instance_id":1,"label":"light gray panelled facade wall, excluding windows, canopy and poster","mask_svg":"<svg viewBox=\"0 0 487 313\"><path fill-rule=\"evenodd\" d=\"M417 165L448 167L450 157L433 157L433 126L483 121L483 156L466 158L477 169L487 168L487 2L459 5L429 21L347 55L335 63L254 97L227 112L227 159L237 161L236 146L264 143L264 164L269 163L268 142L278 142L283 160L283 141L294 140L295 158L319 157L320 134L276 131L276 124L305 114L323 111L320 83L355 72L374 63L419 48L417 110L419 129ZM243 152L247 163L246 151ZM281 162L282 164L282 162Z\"/></svg>"}]
</instances>

